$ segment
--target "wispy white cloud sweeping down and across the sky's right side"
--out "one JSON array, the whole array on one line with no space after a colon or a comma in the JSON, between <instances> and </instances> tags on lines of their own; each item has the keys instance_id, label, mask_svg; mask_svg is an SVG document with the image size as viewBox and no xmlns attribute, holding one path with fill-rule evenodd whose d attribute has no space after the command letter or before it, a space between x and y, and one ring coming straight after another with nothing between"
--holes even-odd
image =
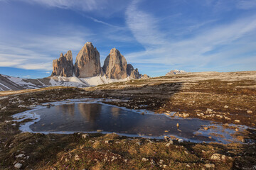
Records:
<instances>
[{"instance_id":1,"label":"wispy white cloud sweeping down and across the sky's right side","mask_svg":"<svg viewBox=\"0 0 256 170\"><path fill-rule=\"evenodd\" d=\"M170 67L206 67L213 63L210 67L219 67L235 64L235 61L245 64L246 56L243 55L246 52L255 52L252 44L256 38L256 16L240 18L222 25L214 24L208 30L197 31L190 38L172 40L167 39L157 28L157 18L139 10L138 2L133 1L127 8L127 25L145 50L126 54L128 61L169 64ZM198 23L198 28L206 23ZM239 52L234 53L233 50ZM233 61L232 57L237 59Z\"/></svg>"}]
</instances>

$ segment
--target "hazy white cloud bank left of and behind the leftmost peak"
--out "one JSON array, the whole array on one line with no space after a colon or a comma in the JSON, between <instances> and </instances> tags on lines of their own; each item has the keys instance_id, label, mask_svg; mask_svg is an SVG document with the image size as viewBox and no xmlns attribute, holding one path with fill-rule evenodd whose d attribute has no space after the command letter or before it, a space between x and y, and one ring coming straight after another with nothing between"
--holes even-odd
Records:
<instances>
[{"instance_id":1,"label":"hazy white cloud bank left of and behind the leftmost peak","mask_svg":"<svg viewBox=\"0 0 256 170\"><path fill-rule=\"evenodd\" d=\"M58 58L60 52L72 50L75 60L78 51L93 35L86 28L72 26L56 26L52 30L55 35L18 32L18 35L23 35L20 39L11 39L8 35L4 38L3 35L0 39L0 67L51 70L52 60Z\"/></svg>"}]
</instances>

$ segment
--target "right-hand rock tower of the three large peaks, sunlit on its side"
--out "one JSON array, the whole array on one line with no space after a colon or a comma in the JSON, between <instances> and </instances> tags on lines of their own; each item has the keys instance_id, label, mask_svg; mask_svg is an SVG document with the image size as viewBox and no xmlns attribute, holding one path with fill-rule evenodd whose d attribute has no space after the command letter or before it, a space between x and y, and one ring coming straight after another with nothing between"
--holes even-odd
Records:
<instances>
[{"instance_id":1,"label":"right-hand rock tower of the three large peaks, sunlit on its side","mask_svg":"<svg viewBox=\"0 0 256 170\"><path fill-rule=\"evenodd\" d=\"M127 61L116 48L110 50L110 54L105 59L102 69L110 79L124 79L128 77Z\"/></svg>"}]
</instances>

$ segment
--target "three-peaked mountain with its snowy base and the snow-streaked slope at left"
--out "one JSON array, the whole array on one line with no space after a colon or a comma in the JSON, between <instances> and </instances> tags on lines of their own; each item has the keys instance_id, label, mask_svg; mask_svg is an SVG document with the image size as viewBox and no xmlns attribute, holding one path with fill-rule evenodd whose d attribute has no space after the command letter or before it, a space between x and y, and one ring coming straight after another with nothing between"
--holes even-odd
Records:
<instances>
[{"instance_id":1,"label":"three-peaked mountain with its snowy base and the snow-streaked slope at left","mask_svg":"<svg viewBox=\"0 0 256 170\"><path fill-rule=\"evenodd\" d=\"M132 64L127 64L125 57L113 48L106 57L103 67L100 67L100 52L86 42L82 47L75 64L73 54L69 50L65 55L53 60L53 72L50 77L42 79L23 79L0 74L0 91L38 89L47 86L97 86L130 79L148 78L139 74Z\"/></svg>"}]
</instances>

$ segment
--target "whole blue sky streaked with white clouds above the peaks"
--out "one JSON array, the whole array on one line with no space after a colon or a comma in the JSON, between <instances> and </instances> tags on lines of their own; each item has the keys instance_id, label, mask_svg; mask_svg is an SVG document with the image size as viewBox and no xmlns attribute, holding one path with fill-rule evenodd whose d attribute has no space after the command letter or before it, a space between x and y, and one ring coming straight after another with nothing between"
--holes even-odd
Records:
<instances>
[{"instance_id":1,"label":"whole blue sky streaked with white clouds above the peaks","mask_svg":"<svg viewBox=\"0 0 256 170\"><path fill-rule=\"evenodd\" d=\"M142 74L256 70L255 0L0 0L0 74L48 77L90 41Z\"/></svg>"}]
</instances>

